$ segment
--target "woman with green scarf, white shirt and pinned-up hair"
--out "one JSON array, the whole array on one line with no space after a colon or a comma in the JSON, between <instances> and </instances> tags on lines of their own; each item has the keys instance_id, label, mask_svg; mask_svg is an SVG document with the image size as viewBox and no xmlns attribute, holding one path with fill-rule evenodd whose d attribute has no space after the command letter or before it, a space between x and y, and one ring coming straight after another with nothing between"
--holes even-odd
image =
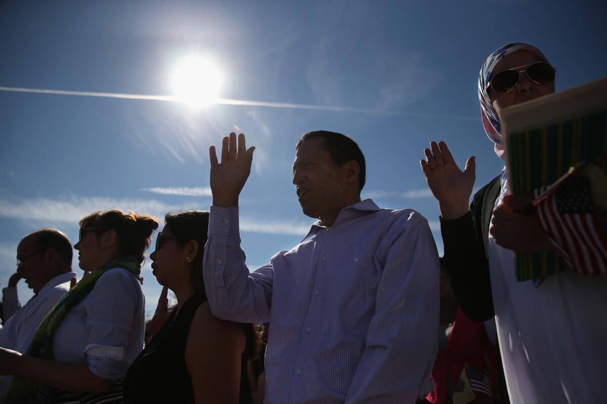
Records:
<instances>
[{"instance_id":1,"label":"woman with green scarf, white shirt and pinned-up hair","mask_svg":"<svg viewBox=\"0 0 607 404\"><path fill-rule=\"evenodd\" d=\"M80 220L74 246L78 282L38 327L27 353L0 349L0 373L14 374L7 403L79 403L120 391L120 379L143 348L140 269L154 217L118 210ZM116 385L112 387L112 384Z\"/></svg>"}]
</instances>

